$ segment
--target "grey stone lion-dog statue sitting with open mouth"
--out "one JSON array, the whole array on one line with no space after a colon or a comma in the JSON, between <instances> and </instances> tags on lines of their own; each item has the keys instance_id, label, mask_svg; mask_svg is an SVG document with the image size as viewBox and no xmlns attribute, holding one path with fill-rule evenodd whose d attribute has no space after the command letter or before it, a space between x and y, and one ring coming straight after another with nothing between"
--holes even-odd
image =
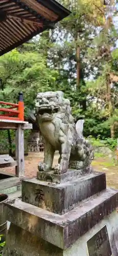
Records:
<instances>
[{"instance_id":1,"label":"grey stone lion-dog statue sitting with open mouth","mask_svg":"<svg viewBox=\"0 0 118 256\"><path fill-rule=\"evenodd\" d=\"M83 120L76 124L71 114L70 101L63 98L63 92L38 93L35 121L44 138L44 161L39 163L39 171L52 169L54 153L60 157L55 166L56 174L67 169L82 169L90 165L93 158L92 146L82 136Z\"/></svg>"}]
</instances>

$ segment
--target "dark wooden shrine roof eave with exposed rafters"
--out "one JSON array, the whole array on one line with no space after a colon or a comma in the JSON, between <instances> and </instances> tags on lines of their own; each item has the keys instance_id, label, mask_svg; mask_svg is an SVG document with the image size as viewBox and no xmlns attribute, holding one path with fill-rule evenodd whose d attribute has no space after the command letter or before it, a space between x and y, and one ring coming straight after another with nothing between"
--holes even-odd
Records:
<instances>
[{"instance_id":1,"label":"dark wooden shrine roof eave with exposed rafters","mask_svg":"<svg viewBox=\"0 0 118 256\"><path fill-rule=\"evenodd\" d=\"M0 56L69 14L55 0L0 0Z\"/></svg>"}]
</instances>

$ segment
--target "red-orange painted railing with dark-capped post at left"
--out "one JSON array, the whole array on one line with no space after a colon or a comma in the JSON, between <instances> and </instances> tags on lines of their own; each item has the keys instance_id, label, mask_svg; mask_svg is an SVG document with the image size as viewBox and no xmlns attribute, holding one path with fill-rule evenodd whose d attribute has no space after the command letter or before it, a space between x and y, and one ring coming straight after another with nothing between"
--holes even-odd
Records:
<instances>
[{"instance_id":1,"label":"red-orange painted railing with dark-capped post at left","mask_svg":"<svg viewBox=\"0 0 118 256\"><path fill-rule=\"evenodd\" d=\"M23 121L24 120L24 104L23 94L18 93L18 103L0 101L0 105L9 106L8 108L0 108L0 119ZM16 110L17 109L17 110Z\"/></svg>"}]
</instances>

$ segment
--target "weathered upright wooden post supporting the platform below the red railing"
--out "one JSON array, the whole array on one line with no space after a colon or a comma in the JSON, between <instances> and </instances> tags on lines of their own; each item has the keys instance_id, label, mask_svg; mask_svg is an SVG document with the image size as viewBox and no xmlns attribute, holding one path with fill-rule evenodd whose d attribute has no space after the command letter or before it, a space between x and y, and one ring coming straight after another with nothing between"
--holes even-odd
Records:
<instances>
[{"instance_id":1,"label":"weathered upright wooden post supporting the platform below the red railing","mask_svg":"<svg viewBox=\"0 0 118 256\"><path fill-rule=\"evenodd\" d=\"M25 175L25 160L24 160L24 135L22 125L18 125L16 130L16 152L15 158L17 161L16 177L24 177Z\"/></svg>"}]
</instances>

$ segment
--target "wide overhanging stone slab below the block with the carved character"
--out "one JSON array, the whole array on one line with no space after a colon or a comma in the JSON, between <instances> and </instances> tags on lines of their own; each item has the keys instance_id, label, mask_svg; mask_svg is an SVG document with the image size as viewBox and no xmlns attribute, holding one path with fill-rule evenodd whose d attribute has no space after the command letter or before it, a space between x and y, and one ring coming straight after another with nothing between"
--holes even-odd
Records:
<instances>
[{"instance_id":1,"label":"wide overhanging stone slab below the block with the carved character","mask_svg":"<svg viewBox=\"0 0 118 256\"><path fill-rule=\"evenodd\" d=\"M117 205L118 191L106 189L61 216L20 199L6 202L5 210L8 221L64 249L111 214Z\"/></svg>"}]
</instances>

